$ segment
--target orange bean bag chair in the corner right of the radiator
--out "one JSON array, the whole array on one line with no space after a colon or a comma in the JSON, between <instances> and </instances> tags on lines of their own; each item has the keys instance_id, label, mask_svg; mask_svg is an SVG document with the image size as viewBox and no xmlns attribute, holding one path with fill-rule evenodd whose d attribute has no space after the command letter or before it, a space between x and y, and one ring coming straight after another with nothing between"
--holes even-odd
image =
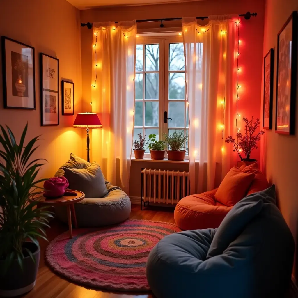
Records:
<instances>
[{"instance_id":1,"label":"orange bean bag chair in the corner right of the radiator","mask_svg":"<svg viewBox=\"0 0 298 298\"><path fill-rule=\"evenodd\" d=\"M233 167L230 172L238 171L239 174L254 174L253 179L248 184L248 189L245 195L256 193L258 191L265 190L269 187L268 181L265 175L257 168L256 164L251 164L247 167L242 166L241 168ZM234 177L229 177L230 172L226 175L219 188L226 187L227 183L233 183ZM242 174L243 175L243 174ZM246 176L246 181L248 176ZM251 176L250 176L251 177ZM229 181L226 181L226 180ZM242 185L234 185L242 187ZM219 188L216 188L205 193L198 195L189 195L178 202L174 211L174 218L176 225L182 230L194 230L194 229L215 229L217 228L226 214L233 208L232 206L226 206L222 202L215 200L215 194ZM218 196L216 196L218 198ZM240 200L241 198L238 198ZM229 199L227 200L229 201Z\"/></svg>"}]
</instances>

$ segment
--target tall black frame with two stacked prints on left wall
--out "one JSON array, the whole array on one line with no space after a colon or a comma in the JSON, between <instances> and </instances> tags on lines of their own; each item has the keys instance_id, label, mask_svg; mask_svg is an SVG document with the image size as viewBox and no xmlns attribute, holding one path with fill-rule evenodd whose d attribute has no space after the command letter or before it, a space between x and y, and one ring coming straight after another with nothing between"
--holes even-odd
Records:
<instances>
[{"instance_id":1,"label":"tall black frame with two stacked prints on left wall","mask_svg":"<svg viewBox=\"0 0 298 298\"><path fill-rule=\"evenodd\" d=\"M57 74L55 72L55 76L57 78L57 88L56 89L48 89L44 88L44 63L43 63L43 58L47 57L53 60L57 61ZM59 59L52 57L50 55L47 55L45 53L39 53L39 66L40 66L40 111L41 111L41 126L57 126L59 125ZM45 94L48 96L55 96L57 94L57 99L56 99L56 106L57 106L57 123L46 123L44 121L44 92L48 92L49 94ZM50 94L52 93L52 95ZM54 94L54 95L53 95ZM50 112L52 113L52 112Z\"/></svg>"}]
</instances>

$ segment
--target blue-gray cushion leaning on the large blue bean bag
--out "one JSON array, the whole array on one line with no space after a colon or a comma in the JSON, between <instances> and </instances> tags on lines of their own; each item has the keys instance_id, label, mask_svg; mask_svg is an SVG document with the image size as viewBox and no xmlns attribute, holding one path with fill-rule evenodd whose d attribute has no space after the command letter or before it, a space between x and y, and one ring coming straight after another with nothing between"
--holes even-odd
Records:
<instances>
[{"instance_id":1,"label":"blue-gray cushion leaning on the large blue bean bag","mask_svg":"<svg viewBox=\"0 0 298 298\"><path fill-rule=\"evenodd\" d=\"M248 195L235 204L218 227L207 258L222 254L229 244L240 235L252 218L261 211L263 197L268 196L268 193L270 193L270 188Z\"/></svg>"}]
</instances>

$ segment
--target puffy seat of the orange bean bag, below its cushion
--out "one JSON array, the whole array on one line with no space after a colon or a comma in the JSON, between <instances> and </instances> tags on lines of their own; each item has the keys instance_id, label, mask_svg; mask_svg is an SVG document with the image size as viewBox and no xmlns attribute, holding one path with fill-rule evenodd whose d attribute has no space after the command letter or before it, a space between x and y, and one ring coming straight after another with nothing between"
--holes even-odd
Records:
<instances>
[{"instance_id":1,"label":"puffy seat of the orange bean bag, below its cushion","mask_svg":"<svg viewBox=\"0 0 298 298\"><path fill-rule=\"evenodd\" d=\"M214 200L216 191L189 195L180 200L174 211L176 225L182 230L218 228L231 207Z\"/></svg>"}]
</instances>

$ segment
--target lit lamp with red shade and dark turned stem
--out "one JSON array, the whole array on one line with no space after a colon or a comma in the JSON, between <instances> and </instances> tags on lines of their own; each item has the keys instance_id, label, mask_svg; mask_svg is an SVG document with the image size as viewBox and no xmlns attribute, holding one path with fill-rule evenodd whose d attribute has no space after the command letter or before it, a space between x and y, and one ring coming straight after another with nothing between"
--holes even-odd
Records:
<instances>
[{"instance_id":1,"label":"lit lamp with red shade and dark turned stem","mask_svg":"<svg viewBox=\"0 0 298 298\"><path fill-rule=\"evenodd\" d=\"M102 128L103 125L101 124L100 119L98 118L96 113L87 112L87 113L77 114L77 117L75 118L75 122L72 126L76 127L76 128L86 128L86 131L87 131L87 162L90 162L89 128Z\"/></svg>"}]
</instances>

